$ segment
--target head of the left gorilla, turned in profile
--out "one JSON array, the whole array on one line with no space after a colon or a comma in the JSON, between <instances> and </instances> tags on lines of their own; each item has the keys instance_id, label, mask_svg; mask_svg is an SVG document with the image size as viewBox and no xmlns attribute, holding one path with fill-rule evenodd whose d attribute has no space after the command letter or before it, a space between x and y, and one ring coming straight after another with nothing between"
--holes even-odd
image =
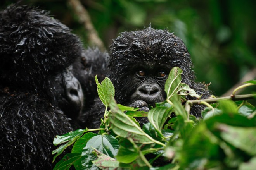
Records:
<instances>
[{"instance_id":1,"label":"head of the left gorilla, turned in profile","mask_svg":"<svg viewBox=\"0 0 256 170\"><path fill-rule=\"evenodd\" d=\"M1 84L36 91L52 98L66 115L78 114L83 93L69 69L81 55L78 38L43 10L12 5L0 16Z\"/></svg>"}]
</instances>

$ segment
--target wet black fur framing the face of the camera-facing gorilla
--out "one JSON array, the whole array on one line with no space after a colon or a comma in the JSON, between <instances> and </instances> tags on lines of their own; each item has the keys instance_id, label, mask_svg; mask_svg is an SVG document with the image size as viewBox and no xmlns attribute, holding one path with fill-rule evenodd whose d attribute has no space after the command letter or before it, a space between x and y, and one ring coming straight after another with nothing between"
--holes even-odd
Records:
<instances>
[{"instance_id":1,"label":"wet black fur framing the face of the camera-facing gorilla","mask_svg":"<svg viewBox=\"0 0 256 170\"><path fill-rule=\"evenodd\" d=\"M136 82L132 81L131 73L135 65L165 65L168 72L178 66L183 70L182 82L188 84L202 98L208 98L210 92L205 84L195 82L192 70L193 64L190 54L183 41L167 30L157 30L148 27L144 30L123 32L114 39L110 45L109 70L110 79L115 88L115 99L122 105L131 103L130 96L136 90ZM161 87L164 91L164 86ZM164 93L164 92L163 92ZM193 99L189 97L189 99ZM95 106L86 113L87 123L90 128L100 125L103 118L104 106L99 99ZM204 106L196 105L191 109L191 114L201 117Z\"/></svg>"}]
</instances>

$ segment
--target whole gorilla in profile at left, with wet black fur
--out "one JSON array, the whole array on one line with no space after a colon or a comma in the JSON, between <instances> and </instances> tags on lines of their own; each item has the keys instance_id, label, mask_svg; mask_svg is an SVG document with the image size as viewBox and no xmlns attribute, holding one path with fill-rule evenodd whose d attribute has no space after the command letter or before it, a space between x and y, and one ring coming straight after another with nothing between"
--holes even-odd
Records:
<instances>
[{"instance_id":1,"label":"whole gorilla in profile at left, with wet black fur","mask_svg":"<svg viewBox=\"0 0 256 170\"><path fill-rule=\"evenodd\" d=\"M82 45L43 10L0 12L0 169L52 169L52 141L83 106L69 66ZM67 116L66 116L67 115Z\"/></svg>"}]
</instances>

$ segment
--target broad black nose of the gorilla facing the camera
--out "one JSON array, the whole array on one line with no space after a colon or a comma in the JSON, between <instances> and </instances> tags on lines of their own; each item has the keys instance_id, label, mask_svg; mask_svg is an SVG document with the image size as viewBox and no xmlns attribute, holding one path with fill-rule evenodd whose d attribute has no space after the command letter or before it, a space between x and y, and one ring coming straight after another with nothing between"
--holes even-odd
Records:
<instances>
[{"instance_id":1,"label":"broad black nose of the gorilla facing the camera","mask_svg":"<svg viewBox=\"0 0 256 170\"><path fill-rule=\"evenodd\" d=\"M138 89L138 93L145 98L156 98L161 94L160 89L156 85L141 86Z\"/></svg>"}]
</instances>

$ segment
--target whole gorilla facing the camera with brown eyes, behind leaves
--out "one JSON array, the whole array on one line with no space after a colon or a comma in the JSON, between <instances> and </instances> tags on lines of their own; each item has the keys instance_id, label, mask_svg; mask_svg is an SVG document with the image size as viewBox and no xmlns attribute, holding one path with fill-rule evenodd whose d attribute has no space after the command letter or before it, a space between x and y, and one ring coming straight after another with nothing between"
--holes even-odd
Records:
<instances>
[{"instance_id":1,"label":"whole gorilla facing the camera with brown eyes, behind leaves","mask_svg":"<svg viewBox=\"0 0 256 170\"><path fill-rule=\"evenodd\" d=\"M202 95L202 98L210 96L205 84L194 82L190 54L183 41L173 33L151 27L121 33L110 45L110 79L115 87L116 101L149 111L149 106L166 98L164 84L175 66L183 70L182 82ZM201 105L193 106L191 114L201 117L203 109ZM103 113L104 106L96 103L86 113L86 125L90 125L90 128L99 127ZM148 122L147 118L138 121L141 125Z\"/></svg>"}]
</instances>

